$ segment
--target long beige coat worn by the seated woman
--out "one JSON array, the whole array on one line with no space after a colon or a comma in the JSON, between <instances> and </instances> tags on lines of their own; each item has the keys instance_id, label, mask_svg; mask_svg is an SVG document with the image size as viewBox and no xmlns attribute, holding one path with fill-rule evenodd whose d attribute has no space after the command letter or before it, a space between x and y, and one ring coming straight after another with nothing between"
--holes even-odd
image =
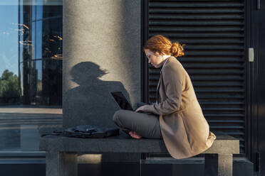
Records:
<instances>
[{"instance_id":1,"label":"long beige coat worn by the seated woman","mask_svg":"<svg viewBox=\"0 0 265 176\"><path fill-rule=\"evenodd\" d=\"M173 158L189 158L212 146L216 136L209 131L189 75L180 62L169 57L157 84L157 104L143 111L160 115L162 138Z\"/></svg>"}]
</instances>

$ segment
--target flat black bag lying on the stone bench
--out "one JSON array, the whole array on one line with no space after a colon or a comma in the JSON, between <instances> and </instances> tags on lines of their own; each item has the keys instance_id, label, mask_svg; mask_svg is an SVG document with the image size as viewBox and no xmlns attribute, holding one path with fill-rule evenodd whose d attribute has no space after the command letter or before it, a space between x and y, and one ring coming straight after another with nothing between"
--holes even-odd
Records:
<instances>
[{"instance_id":1,"label":"flat black bag lying on the stone bench","mask_svg":"<svg viewBox=\"0 0 265 176\"><path fill-rule=\"evenodd\" d=\"M51 134L75 138L106 138L109 136L118 136L119 132L119 128L99 128L97 126L81 125L67 128L63 131L53 131L53 133L47 133L42 136Z\"/></svg>"}]
</instances>

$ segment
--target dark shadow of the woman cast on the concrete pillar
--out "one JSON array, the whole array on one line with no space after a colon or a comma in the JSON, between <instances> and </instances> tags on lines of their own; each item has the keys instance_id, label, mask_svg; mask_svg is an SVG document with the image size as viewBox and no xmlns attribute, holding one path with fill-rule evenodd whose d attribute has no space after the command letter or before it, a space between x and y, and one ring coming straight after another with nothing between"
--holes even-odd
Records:
<instances>
[{"instance_id":1,"label":"dark shadow of the woman cast on the concrete pillar","mask_svg":"<svg viewBox=\"0 0 265 176\"><path fill-rule=\"evenodd\" d=\"M63 128L78 125L114 127L113 114L120 108L110 92L123 92L130 101L123 84L100 80L108 72L93 62L78 63L70 74L71 80L79 86L63 93Z\"/></svg>"}]
</instances>

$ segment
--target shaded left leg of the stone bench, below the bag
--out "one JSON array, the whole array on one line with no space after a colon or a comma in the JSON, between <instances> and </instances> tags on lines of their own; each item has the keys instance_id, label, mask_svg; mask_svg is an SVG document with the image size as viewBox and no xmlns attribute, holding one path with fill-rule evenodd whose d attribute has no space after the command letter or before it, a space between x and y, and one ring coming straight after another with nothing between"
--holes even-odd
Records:
<instances>
[{"instance_id":1,"label":"shaded left leg of the stone bench, below the bag","mask_svg":"<svg viewBox=\"0 0 265 176\"><path fill-rule=\"evenodd\" d=\"M77 176L77 154L46 152L46 176Z\"/></svg>"}]
</instances>

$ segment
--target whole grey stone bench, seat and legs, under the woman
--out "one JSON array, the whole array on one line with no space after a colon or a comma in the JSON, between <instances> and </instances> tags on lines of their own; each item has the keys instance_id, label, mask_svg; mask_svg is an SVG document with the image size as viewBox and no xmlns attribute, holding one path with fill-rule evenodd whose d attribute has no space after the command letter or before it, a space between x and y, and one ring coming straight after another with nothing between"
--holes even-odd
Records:
<instances>
[{"instance_id":1,"label":"whole grey stone bench, seat and legs, under the woman","mask_svg":"<svg viewBox=\"0 0 265 176\"><path fill-rule=\"evenodd\" d=\"M161 139L133 139L123 133L85 139L44 136L39 149L46 151L46 176L77 176L77 153L168 153ZM217 135L212 147L204 153L204 175L232 176L232 159L233 154L239 153L239 140Z\"/></svg>"}]
</instances>

